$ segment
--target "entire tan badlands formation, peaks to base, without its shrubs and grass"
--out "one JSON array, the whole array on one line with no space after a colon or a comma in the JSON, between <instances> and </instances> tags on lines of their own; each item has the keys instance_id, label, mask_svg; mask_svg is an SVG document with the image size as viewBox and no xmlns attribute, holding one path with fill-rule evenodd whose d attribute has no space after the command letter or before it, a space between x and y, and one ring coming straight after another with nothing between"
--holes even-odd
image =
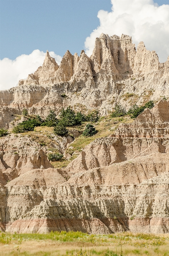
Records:
<instances>
[{"instance_id":1,"label":"entire tan badlands formation, peaks to base, without its shrubs and grass","mask_svg":"<svg viewBox=\"0 0 169 256\"><path fill-rule=\"evenodd\" d=\"M160 97L168 95L169 58L159 63L143 42L136 51L127 35L101 34L90 58L67 51L60 66L47 52L35 73L0 91L0 128L9 128L0 137L0 230L168 233L169 100ZM65 137L51 127L10 132L24 120L24 108L46 117L70 105L105 116L116 102L129 108L149 100L156 105L135 120L116 125L120 119L112 119L104 137L84 138L74 160L68 152L82 138L80 128ZM106 130L106 119L101 122ZM69 159L65 168L48 160L53 149Z\"/></svg>"}]
</instances>

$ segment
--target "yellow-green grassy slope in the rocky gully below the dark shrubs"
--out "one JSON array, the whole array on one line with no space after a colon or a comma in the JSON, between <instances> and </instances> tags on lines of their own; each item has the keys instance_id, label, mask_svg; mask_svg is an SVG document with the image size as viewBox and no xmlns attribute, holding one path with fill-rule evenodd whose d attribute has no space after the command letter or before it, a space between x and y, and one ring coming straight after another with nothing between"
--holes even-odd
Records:
<instances>
[{"instance_id":1,"label":"yellow-green grassy slope in the rocky gully below the dark shrubs","mask_svg":"<svg viewBox=\"0 0 169 256\"><path fill-rule=\"evenodd\" d=\"M77 157L78 154L84 149L86 145L91 143L93 140L99 137L107 137L111 134L115 133L115 130L118 128L120 123L128 123L133 122L129 116L127 117L115 117L112 118L110 116L101 117L97 123L93 123L98 133L92 137L84 137L83 135L75 138L75 140L71 143L71 148L66 150L66 153L69 153L71 158L69 160L62 159L60 161L51 162L54 168L64 168L66 167L74 158ZM71 135L71 130L83 131L85 129L87 122L84 122L81 126L69 127L69 134ZM25 133L21 133L21 136L29 136L32 140L39 143L42 147L45 146L46 151L58 152L56 148L51 146L52 143L56 142L53 140L53 127L47 126L39 126L35 127L34 131L29 131ZM17 134L16 134L17 136ZM58 139L60 137L58 136Z\"/></svg>"}]
</instances>

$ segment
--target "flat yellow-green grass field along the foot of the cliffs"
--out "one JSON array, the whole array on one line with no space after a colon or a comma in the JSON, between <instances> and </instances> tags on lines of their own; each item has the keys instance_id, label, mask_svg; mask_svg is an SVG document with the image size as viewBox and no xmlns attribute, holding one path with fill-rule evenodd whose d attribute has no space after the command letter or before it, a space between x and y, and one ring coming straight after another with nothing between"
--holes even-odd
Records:
<instances>
[{"instance_id":1,"label":"flat yellow-green grass field along the foot of the cliffs","mask_svg":"<svg viewBox=\"0 0 169 256\"><path fill-rule=\"evenodd\" d=\"M169 256L169 235L82 232L0 233L1 256Z\"/></svg>"}]
</instances>

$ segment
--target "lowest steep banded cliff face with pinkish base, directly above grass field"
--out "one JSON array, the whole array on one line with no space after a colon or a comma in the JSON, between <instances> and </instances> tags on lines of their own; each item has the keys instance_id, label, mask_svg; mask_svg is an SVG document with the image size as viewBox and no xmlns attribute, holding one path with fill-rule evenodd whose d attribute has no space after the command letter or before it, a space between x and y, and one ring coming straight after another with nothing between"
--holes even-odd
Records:
<instances>
[{"instance_id":1,"label":"lowest steep banded cliff face with pinkish base, directly above grass field","mask_svg":"<svg viewBox=\"0 0 169 256\"><path fill-rule=\"evenodd\" d=\"M169 232L168 172L137 185L17 183L7 185L8 232Z\"/></svg>"}]
</instances>

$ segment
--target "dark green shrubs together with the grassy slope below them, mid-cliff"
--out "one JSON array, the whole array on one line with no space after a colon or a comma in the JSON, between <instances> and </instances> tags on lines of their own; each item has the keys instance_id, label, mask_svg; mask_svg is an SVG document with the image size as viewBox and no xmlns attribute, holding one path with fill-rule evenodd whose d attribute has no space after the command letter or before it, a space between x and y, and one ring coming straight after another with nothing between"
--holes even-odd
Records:
<instances>
[{"instance_id":1,"label":"dark green shrubs together with the grassy slope below them, mid-cliff","mask_svg":"<svg viewBox=\"0 0 169 256\"><path fill-rule=\"evenodd\" d=\"M69 132L69 129L78 130L78 131L81 131L81 133L83 133L86 128L86 125L88 124L88 122L84 121L87 119L86 117L89 118L88 120L92 120L93 121L92 125L94 126L94 129L97 130L97 133L92 134L92 136L87 136L87 137L83 136L81 134L79 137L75 138L74 141L71 143L71 154L69 152L69 148L66 149L66 154L69 154L70 158L65 159L64 157L62 157L62 158L60 158L60 160L58 160L58 159L57 160L53 159L52 161L50 160L51 164L54 166L54 168L64 168L73 159L75 159L78 156L78 154L84 149L84 147L86 145L88 145L93 140L95 140L99 137L106 137L106 136L113 134L115 132L115 130L118 128L120 123L133 122L133 119L131 119L131 117L134 117L134 114L135 114L135 116L137 116L139 111L142 112L145 109L145 107L151 108L153 106L153 104L154 103L152 101L149 101L143 107L138 107L137 105L134 105L133 108L131 108L128 112L121 105L117 104L118 106L116 105L117 106L116 110L115 110L116 112L113 112L113 113L115 113L114 114L115 116L117 115L116 117L112 117L113 116L112 114L109 114L106 117L99 117L98 111L92 111L91 113L89 113L86 116L86 115L82 114L81 112L75 113L69 107L66 110L62 111L62 114L60 114L61 118L57 119L56 114L54 114L53 111L50 111L46 120L48 120L49 123L53 122L56 125L51 126L51 127L49 127L50 125L36 126L33 131L26 131L26 133L24 132L23 135L30 134L30 136L32 137L33 140L38 142L41 146L45 146L45 148L47 150L47 154L49 154L49 153L51 153L49 148L51 148L51 145L53 143L55 143L53 140L54 134L57 136L68 136L71 134L71 132ZM124 114L125 115L121 116L121 113L123 115ZM91 116L92 116L92 119L91 119ZM41 117L36 116L36 118L37 118L38 122L40 122L40 123L44 122L41 119ZM75 119L78 121L75 121ZM65 122L68 122L68 120L71 120L71 124L76 122L77 125L70 126L71 128L69 128L68 126L66 127L64 125L64 122L62 123L62 120L66 120ZM98 121L95 122L96 120L98 120ZM17 126L15 126L15 127L17 127ZM38 131L41 133L37 133ZM57 151L56 148L52 153L60 154L60 152Z\"/></svg>"}]
</instances>

